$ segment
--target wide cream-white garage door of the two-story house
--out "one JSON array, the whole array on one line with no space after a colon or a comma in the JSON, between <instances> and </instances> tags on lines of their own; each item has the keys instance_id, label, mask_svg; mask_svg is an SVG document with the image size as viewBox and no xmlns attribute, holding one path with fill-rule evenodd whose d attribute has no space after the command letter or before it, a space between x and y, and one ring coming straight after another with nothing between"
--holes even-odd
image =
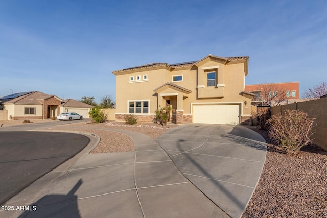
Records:
<instances>
[{"instance_id":1,"label":"wide cream-white garage door of the two-story house","mask_svg":"<svg viewBox=\"0 0 327 218\"><path fill-rule=\"evenodd\" d=\"M193 105L193 123L239 124L240 105Z\"/></svg>"}]
</instances>

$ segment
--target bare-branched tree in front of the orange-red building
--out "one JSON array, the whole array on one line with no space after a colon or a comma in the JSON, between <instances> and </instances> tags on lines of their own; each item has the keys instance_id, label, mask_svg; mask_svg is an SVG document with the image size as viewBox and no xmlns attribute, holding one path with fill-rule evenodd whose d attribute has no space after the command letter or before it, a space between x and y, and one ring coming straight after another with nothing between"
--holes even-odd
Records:
<instances>
[{"instance_id":1,"label":"bare-branched tree in front of the orange-red building","mask_svg":"<svg viewBox=\"0 0 327 218\"><path fill-rule=\"evenodd\" d=\"M279 84L261 83L258 90L261 91L261 101L267 106L277 106L288 99L286 92L289 88Z\"/></svg>"}]
</instances>

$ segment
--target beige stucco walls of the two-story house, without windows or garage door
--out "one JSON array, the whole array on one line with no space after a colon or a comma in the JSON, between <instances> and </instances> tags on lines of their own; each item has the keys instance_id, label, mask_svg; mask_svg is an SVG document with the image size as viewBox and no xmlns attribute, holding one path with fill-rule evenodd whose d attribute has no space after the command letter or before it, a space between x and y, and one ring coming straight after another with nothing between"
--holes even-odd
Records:
<instances>
[{"instance_id":1,"label":"beige stucco walls of the two-story house, without windows or garage door","mask_svg":"<svg viewBox=\"0 0 327 218\"><path fill-rule=\"evenodd\" d=\"M235 63L235 64L232 64ZM210 67L216 67L218 71L218 88L207 87L207 72L211 72ZM203 69L204 68L204 69ZM147 81L129 82L129 77L147 75ZM167 82L173 82L173 75L183 75L183 81L174 82L174 84L186 89L192 90L191 93L183 93L180 89L174 87L160 89L158 96L153 91ZM127 72L116 73L116 113L128 113L129 100L146 100L149 101L149 114L155 114L157 106L165 105L165 100L170 99L170 104L182 109L183 114L192 114L192 107L199 103L214 103L214 104L240 104L241 115L251 116L250 97L243 96L245 69L243 61L232 61L224 65L221 60L207 58L197 64L197 66L181 67L170 69L161 67L159 69L137 69ZM198 83L197 83L198 81ZM198 85L201 88L198 88ZM204 86L204 87L203 87ZM202 88L203 87L203 88ZM202 95L199 96L199 92ZM160 96L160 94L169 94L172 96ZM178 95L174 95L178 93ZM179 96L179 97L178 97ZM219 98L217 96L220 96ZM200 98L202 97L202 98ZM183 104L178 105L178 98L183 98ZM248 102L246 106L244 101ZM147 114L147 115L149 115ZM144 114L137 114L144 115Z\"/></svg>"}]
</instances>

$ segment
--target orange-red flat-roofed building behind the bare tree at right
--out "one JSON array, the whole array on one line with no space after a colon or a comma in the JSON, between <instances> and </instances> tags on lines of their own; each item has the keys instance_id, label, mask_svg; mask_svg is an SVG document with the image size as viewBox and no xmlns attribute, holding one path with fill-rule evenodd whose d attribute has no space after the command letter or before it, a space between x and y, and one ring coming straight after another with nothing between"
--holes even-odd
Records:
<instances>
[{"instance_id":1,"label":"orange-red flat-roofed building behind the bare tree at right","mask_svg":"<svg viewBox=\"0 0 327 218\"><path fill-rule=\"evenodd\" d=\"M272 88L276 87L276 89L286 90L287 99L284 102L281 102L282 105L301 101L299 99L300 96L299 82L263 83L263 84L245 85L245 91L255 94L255 97L253 98L251 105L263 106L263 101L262 101L263 96L261 93L262 86L271 86ZM271 97L272 95L278 97L277 90L271 90L268 93L269 97Z\"/></svg>"}]
</instances>

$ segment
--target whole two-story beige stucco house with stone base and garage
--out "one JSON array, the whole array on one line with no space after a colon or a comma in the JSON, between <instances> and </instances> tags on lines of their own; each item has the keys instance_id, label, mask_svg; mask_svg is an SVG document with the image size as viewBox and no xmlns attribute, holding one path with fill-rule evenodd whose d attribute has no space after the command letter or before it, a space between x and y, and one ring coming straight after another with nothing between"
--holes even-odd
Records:
<instances>
[{"instance_id":1,"label":"whole two-story beige stucco house with stone base and garage","mask_svg":"<svg viewBox=\"0 0 327 218\"><path fill-rule=\"evenodd\" d=\"M116 70L116 120L134 114L152 122L161 106L173 108L175 123L248 124L250 102L245 91L249 57L208 55L199 61L151 63Z\"/></svg>"}]
</instances>

